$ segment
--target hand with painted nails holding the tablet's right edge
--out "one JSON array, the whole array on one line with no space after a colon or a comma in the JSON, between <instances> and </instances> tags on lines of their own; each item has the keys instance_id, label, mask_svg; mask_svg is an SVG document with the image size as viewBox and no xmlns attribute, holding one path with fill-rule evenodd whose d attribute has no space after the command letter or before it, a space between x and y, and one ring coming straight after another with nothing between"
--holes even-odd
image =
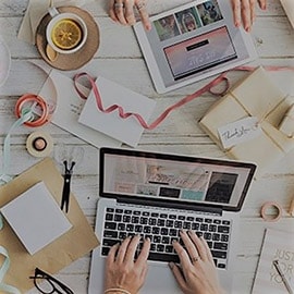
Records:
<instances>
[{"instance_id":1,"label":"hand with painted nails holding the tablet's right edge","mask_svg":"<svg viewBox=\"0 0 294 294\"><path fill-rule=\"evenodd\" d=\"M244 29L250 32L256 17L256 1L260 9L266 10L267 0L231 0L235 26L243 24Z\"/></svg>"}]
</instances>

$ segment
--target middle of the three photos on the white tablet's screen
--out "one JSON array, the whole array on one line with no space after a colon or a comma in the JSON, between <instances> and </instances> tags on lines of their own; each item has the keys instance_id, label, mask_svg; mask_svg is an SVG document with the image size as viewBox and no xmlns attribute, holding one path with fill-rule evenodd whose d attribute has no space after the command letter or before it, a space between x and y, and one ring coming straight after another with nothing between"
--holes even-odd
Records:
<instances>
[{"instance_id":1,"label":"middle of the three photos on the white tablet's screen","mask_svg":"<svg viewBox=\"0 0 294 294\"><path fill-rule=\"evenodd\" d=\"M195 8L189 8L183 11L175 13L181 33L187 33L195 30L201 26L199 15Z\"/></svg>"}]
</instances>

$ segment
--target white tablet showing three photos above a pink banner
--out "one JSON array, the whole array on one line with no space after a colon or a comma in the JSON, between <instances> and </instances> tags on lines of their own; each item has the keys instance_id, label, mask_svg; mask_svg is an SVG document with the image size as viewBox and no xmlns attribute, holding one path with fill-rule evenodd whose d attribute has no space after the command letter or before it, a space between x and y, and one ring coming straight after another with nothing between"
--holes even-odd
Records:
<instances>
[{"instance_id":1,"label":"white tablet showing three photos above a pink banner","mask_svg":"<svg viewBox=\"0 0 294 294\"><path fill-rule=\"evenodd\" d=\"M256 59L249 34L234 26L231 1L192 1L142 22L134 32L158 93Z\"/></svg>"}]
</instances>

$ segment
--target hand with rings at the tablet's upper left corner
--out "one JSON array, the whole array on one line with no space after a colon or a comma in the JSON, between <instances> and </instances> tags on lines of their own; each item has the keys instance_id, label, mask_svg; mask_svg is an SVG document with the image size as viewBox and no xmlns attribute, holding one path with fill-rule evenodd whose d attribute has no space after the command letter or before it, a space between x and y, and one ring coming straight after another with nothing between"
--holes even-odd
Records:
<instances>
[{"instance_id":1,"label":"hand with rings at the tablet's upper left corner","mask_svg":"<svg viewBox=\"0 0 294 294\"><path fill-rule=\"evenodd\" d=\"M136 23L134 9L139 13L140 20L146 30L151 29L149 15L146 10L145 0L110 0L109 15L114 22L123 25L134 25Z\"/></svg>"}]
</instances>

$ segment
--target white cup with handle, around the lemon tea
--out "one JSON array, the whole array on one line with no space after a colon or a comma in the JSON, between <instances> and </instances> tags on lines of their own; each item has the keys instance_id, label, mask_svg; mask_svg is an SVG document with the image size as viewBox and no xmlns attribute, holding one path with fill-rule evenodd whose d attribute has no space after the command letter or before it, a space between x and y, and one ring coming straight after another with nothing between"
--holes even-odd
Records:
<instances>
[{"instance_id":1,"label":"white cup with handle, around the lemon tea","mask_svg":"<svg viewBox=\"0 0 294 294\"><path fill-rule=\"evenodd\" d=\"M47 28L46 28L46 39L47 39L49 46L51 46L51 48L54 51L62 53L62 54L71 54L71 53L75 53L76 51L78 51L85 45L85 42L87 40L87 35L88 35L88 29L87 29L86 23L83 21L83 19L79 17L78 15L76 15L75 13L59 12L54 7L49 8L48 12L49 12L50 16L52 17L50 20L50 22L48 23ZM82 30L81 32L82 39L74 48L71 48L71 49L60 48L52 40L52 29L62 20L71 20L71 21L75 22Z\"/></svg>"}]
</instances>

